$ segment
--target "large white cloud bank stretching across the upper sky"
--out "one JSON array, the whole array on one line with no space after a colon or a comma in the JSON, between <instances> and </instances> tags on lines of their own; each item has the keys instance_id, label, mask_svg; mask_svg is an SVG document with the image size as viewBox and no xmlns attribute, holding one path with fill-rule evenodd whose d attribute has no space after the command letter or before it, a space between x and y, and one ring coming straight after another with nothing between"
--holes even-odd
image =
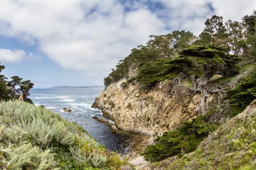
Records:
<instances>
[{"instance_id":1,"label":"large white cloud bank stretching across the upper sky","mask_svg":"<svg viewBox=\"0 0 256 170\"><path fill-rule=\"evenodd\" d=\"M162 7L151 10L152 3ZM103 77L149 35L199 34L213 14L239 19L253 6L251 0L1 0L0 34L36 44L62 67Z\"/></svg>"}]
</instances>

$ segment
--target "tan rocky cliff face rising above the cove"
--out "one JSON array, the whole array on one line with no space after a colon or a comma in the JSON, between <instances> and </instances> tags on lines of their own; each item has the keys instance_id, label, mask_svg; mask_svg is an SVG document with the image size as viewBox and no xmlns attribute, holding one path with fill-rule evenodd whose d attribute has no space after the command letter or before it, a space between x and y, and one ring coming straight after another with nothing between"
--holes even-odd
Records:
<instances>
[{"instance_id":1,"label":"tan rocky cliff face rising above the cove","mask_svg":"<svg viewBox=\"0 0 256 170\"><path fill-rule=\"evenodd\" d=\"M122 89L121 83L108 86L92 106L100 108L103 116L114 120L121 130L161 135L185 118L199 114L200 94L186 86L179 85L172 91L172 81L165 81L153 90L142 92L137 85Z\"/></svg>"}]
</instances>

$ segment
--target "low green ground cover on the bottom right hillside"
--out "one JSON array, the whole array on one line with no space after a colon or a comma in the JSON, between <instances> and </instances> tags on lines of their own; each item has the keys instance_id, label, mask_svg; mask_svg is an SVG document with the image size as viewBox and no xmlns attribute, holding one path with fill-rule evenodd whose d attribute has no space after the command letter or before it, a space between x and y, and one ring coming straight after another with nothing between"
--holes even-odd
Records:
<instances>
[{"instance_id":1,"label":"low green ground cover on the bottom right hillside","mask_svg":"<svg viewBox=\"0 0 256 170\"><path fill-rule=\"evenodd\" d=\"M194 152L169 158L167 164L168 170L255 170L256 101L209 134Z\"/></svg>"}]
</instances>

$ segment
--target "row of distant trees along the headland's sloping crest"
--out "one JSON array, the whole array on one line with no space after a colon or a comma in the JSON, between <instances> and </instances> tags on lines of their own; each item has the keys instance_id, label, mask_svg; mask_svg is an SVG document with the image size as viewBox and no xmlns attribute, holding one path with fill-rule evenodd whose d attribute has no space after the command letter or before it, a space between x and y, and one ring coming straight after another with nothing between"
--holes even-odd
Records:
<instances>
[{"instance_id":1,"label":"row of distant trees along the headland's sloping crest","mask_svg":"<svg viewBox=\"0 0 256 170\"><path fill-rule=\"evenodd\" d=\"M173 58L173 55L190 46L195 36L190 31L172 31L161 36L149 36L147 45L139 45L131 53L112 68L112 72L104 79L104 85L128 77L128 72L134 72L145 63L154 62L163 58Z\"/></svg>"}]
</instances>

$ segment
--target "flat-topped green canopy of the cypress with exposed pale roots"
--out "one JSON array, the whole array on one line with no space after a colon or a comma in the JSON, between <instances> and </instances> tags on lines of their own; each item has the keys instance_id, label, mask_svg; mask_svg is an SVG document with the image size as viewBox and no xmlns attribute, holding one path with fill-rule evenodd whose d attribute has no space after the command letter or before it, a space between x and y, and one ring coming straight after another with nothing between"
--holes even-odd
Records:
<instances>
[{"instance_id":1,"label":"flat-topped green canopy of the cypress with exposed pale roots","mask_svg":"<svg viewBox=\"0 0 256 170\"><path fill-rule=\"evenodd\" d=\"M183 67L183 71L185 74L195 75L195 78L207 77L208 81L217 73L222 76L238 74L236 63L240 58L228 53L229 47L193 45L180 53L191 63L186 69Z\"/></svg>"}]
</instances>

